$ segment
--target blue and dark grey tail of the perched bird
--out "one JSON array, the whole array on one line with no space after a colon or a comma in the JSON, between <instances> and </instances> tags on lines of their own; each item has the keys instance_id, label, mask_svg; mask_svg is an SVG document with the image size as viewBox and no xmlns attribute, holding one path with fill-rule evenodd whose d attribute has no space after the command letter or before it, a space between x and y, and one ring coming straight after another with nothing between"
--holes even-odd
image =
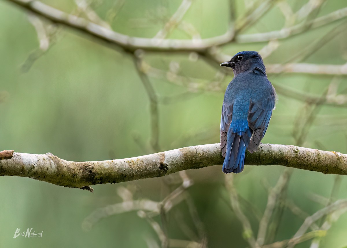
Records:
<instances>
[{"instance_id":1,"label":"blue and dark grey tail of the perched bird","mask_svg":"<svg viewBox=\"0 0 347 248\"><path fill-rule=\"evenodd\" d=\"M249 130L250 131L250 130ZM238 133L228 132L227 136L227 152L223 163L224 173L240 173L243 171L245 164L246 147L249 143L249 132L242 135Z\"/></svg>"}]
</instances>

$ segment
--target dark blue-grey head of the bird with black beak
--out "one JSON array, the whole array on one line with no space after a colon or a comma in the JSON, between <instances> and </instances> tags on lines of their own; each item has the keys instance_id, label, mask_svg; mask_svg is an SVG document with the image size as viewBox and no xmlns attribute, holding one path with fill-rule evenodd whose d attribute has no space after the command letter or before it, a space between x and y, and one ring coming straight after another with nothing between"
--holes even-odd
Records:
<instances>
[{"instance_id":1,"label":"dark blue-grey head of the bird with black beak","mask_svg":"<svg viewBox=\"0 0 347 248\"><path fill-rule=\"evenodd\" d=\"M235 76L250 69L266 75L263 59L256 51L238 52L229 61L220 65L231 67Z\"/></svg>"}]
</instances>

